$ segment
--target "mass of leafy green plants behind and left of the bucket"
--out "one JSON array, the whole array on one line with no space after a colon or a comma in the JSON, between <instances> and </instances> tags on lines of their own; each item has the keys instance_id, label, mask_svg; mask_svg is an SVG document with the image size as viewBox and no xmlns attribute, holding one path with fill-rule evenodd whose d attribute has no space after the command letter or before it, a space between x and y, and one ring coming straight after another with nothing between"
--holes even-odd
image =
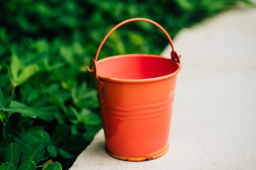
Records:
<instances>
[{"instance_id":1,"label":"mass of leafy green plants behind and left of the bucket","mask_svg":"<svg viewBox=\"0 0 256 170\"><path fill-rule=\"evenodd\" d=\"M48 164L45 162L58 161L68 169L90 143L101 129L101 118L94 81L86 67L113 26L132 17L145 17L161 24L174 37L181 28L236 7L238 2L251 3L1 0L0 167L22 169L27 163L40 168ZM166 44L167 39L155 26L129 23L109 37L99 58L159 54ZM37 157L37 161L15 157L19 161L10 162L6 158L14 153L26 155L32 146L43 147L43 157ZM59 168L57 163L50 166Z\"/></svg>"}]
</instances>

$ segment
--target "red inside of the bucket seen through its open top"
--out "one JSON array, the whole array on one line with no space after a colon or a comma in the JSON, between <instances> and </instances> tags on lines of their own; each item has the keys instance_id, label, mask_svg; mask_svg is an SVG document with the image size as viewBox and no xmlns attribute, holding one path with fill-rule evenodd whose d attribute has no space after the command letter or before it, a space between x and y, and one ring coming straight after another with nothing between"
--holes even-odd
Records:
<instances>
[{"instance_id":1,"label":"red inside of the bucket seen through its open top","mask_svg":"<svg viewBox=\"0 0 256 170\"><path fill-rule=\"evenodd\" d=\"M161 56L123 55L97 61L99 78L145 79L166 76L177 71L179 65Z\"/></svg>"}]
</instances>

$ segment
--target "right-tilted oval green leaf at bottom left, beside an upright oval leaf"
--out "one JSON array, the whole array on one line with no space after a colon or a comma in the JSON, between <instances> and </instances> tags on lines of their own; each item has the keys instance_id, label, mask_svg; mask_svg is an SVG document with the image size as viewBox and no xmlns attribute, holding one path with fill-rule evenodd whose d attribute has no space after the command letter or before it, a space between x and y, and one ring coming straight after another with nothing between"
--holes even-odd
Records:
<instances>
[{"instance_id":1,"label":"right-tilted oval green leaf at bottom left, beside an upright oval leaf","mask_svg":"<svg viewBox=\"0 0 256 170\"><path fill-rule=\"evenodd\" d=\"M42 161L45 154L45 149L42 144L34 143L29 145L29 147L24 151L21 163L26 161L34 161L35 165Z\"/></svg>"}]
</instances>

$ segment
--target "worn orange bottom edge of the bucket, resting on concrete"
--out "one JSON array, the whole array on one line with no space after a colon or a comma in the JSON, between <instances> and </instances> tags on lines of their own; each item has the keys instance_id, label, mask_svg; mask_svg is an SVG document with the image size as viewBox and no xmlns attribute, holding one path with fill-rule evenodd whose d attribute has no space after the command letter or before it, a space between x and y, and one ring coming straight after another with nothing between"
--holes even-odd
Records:
<instances>
[{"instance_id":1,"label":"worn orange bottom edge of the bucket, resting on concrete","mask_svg":"<svg viewBox=\"0 0 256 170\"><path fill-rule=\"evenodd\" d=\"M111 157L114 157L116 159L120 159L120 160L123 160L123 161L140 162L140 161L149 161L149 160L153 160L153 159L157 159L159 157L162 157L164 154L166 154L168 149L169 149L169 144L161 152L159 152L157 154L154 154L154 155L148 155L148 156L145 156L145 157L124 157L124 156L121 156L121 155L117 155L115 153L111 153L108 150L107 147L106 147L106 152L108 153L108 155L110 155Z\"/></svg>"}]
</instances>

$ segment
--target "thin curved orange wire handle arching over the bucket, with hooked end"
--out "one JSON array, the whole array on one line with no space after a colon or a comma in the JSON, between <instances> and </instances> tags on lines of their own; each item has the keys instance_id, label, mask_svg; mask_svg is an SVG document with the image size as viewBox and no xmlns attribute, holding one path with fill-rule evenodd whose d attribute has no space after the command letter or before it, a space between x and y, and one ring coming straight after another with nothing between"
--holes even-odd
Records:
<instances>
[{"instance_id":1,"label":"thin curved orange wire handle arching over the bucket, with hooked end","mask_svg":"<svg viewBox=\"0 0 256 170\"><path fill-rule=\"evenodd\" d=\"M177 53L175 52L175 50L174 50L173 41L171 40L171 37L170 37L170 35L167 33L167 31L165 31L164 28L163 28L161 25L157 24L156 22L154 22L154 21L152 21L152 20L146 19L146 18L132 18L132 19L128 19L128 20L125 20L125 21L123 21L123 22L117 24L114 28L112 28L112 29L108 32L108 34L103 38L103 40L101 41L101 44L99 45L99 48L98 48L98 50L97 50L97 53L96 53L96 56L95 56L95 59L94 59L95 62L97 61L97 59L98 59L98 57L99 57L99 52L101 51L101 48L102 48L103 44L104 44L105 41L108 39L108 37L110 36L110 34L113 33L113 32L114 32L117 28L119 28L120 26L122 26L122 25L124 25L124 24L126 24L126 23L128 23L128 22L133 22L133 21L146 21L146 22L149 22L149 23L154 24L155 26L157 26L157 27L166 35L166 37L167 37L169 43L171 44L171 48L173 49L172 52L171 52L171 59L173 59L174 61L177 61L178 63L180 63L180 58L179 58L179 56L177 55ZM94 68L91 68L91 69L90 69L89 67L87 67L87 70L88 70L89 72L93 72L93 69L94 69Z\"/></svg>"}]
</instances>

